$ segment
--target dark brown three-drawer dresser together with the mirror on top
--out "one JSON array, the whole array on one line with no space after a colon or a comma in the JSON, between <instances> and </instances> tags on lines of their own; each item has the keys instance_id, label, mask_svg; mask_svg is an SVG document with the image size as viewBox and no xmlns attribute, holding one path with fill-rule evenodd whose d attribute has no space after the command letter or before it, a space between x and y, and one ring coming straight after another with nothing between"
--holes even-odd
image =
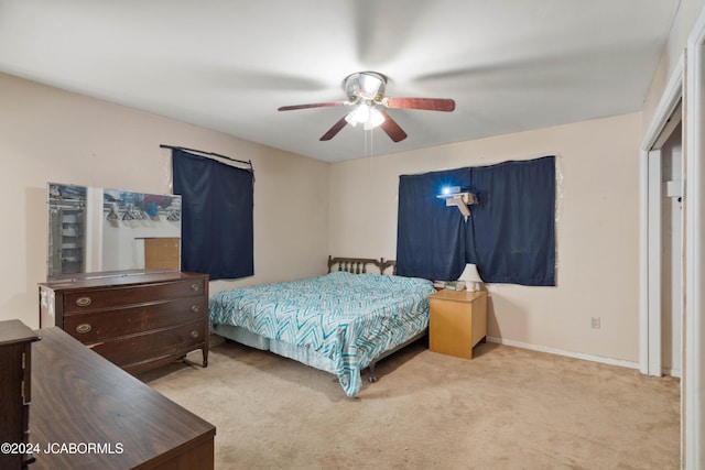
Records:
<instances>
[{"instance_id":1,"label":"dark brown three-drawer dresser together with the mirror on top","mask_svg":"<svg viewBox=\"0 0 705 470\"><path fill-rule=\"evenodd\" d=\"M56 326L130 373L208 364L208 275L181 267L182 198L48 184L40 327Z\"/></svg>"}]
</instances>

